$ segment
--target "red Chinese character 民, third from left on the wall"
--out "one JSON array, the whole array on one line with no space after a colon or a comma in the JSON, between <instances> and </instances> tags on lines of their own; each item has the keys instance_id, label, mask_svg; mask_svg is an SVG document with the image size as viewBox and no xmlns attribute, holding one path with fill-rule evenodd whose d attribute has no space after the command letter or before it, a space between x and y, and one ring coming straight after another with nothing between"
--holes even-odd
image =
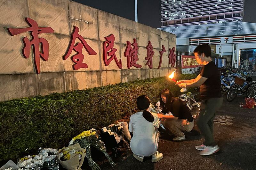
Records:
<instances>
[{"instance_id":1,"label":"red Chinese character \u6c11, third from left on the wall","mask_svg":"<svg viewBox=\"0 0 256 170\"><path fill-rule=\"evenodd\" d=\"M116 65L118 66L118 68L122 69L121 59L118 62L118 60L116 58L117 49L114 48L115 36L113 34L110 34L109 36L104 37L104 38L105 38L105 40L107 40L107 41L103 42L103 61L104 61L105 66L108 66L109 63L113 59L115 59L115 62L116 62ZM107 59L107 56L110 56L110 58Z\"/></svg>"}]
</instances>

